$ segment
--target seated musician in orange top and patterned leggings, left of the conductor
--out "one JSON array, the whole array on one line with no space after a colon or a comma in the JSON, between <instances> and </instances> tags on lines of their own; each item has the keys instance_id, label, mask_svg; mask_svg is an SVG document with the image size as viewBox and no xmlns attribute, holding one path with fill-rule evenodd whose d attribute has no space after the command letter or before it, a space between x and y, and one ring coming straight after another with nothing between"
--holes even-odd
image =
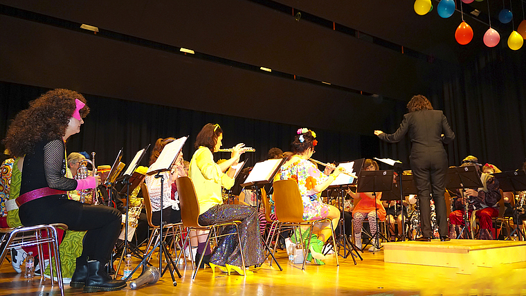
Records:
<instances>
[{"instance_id":1,"label":"seated musician in orange top and patterned leggings, left of the conductor","mask_svg":"<svg viewBox=\"0 0 526 296\"><path fill-rule=\"evenodd\" d=\"M363 161L363 167L365 171L377 171L379 170L378 163L372 159L366 159ZM386 209L383 207L380 198L381 192L376 193L376 196L372 192L348 192L352 198L356 201L356 205L352 210L353 216L353 228L354 228L354 244L361 250L361 230L363 220L367 218L369 220L369 228L371 230L371 237L377 233L377 214L380 221L386 219ZM379 249L378 241L373 241L370 252L374 252Z\"/></svg>"}]
</instances>

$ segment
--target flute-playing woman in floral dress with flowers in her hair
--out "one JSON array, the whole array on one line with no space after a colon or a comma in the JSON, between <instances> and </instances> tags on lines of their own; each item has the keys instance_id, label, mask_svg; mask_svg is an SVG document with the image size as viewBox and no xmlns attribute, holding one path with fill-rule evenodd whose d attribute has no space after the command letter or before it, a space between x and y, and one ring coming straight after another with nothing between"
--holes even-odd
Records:
<instances>
[{"instance_id":1,"label":"flute-playing woman in floral dress with flowers in her hair","mask_svg":"<svg viewBox=\"0 0 526 296\"><path fill-rule=\"evenodd\" d=\"M296 181L303 201L303 219L330 218L332 219L332 227L336 228L340 219L340 211L332 205L323 203L321 192L331 185L342 172L342 168L338 167L329 176L321 172L314 163L309 161L309 158L315 152L314 147L318 144L318 140L315 139L316 133L306 128L298 129L296 133L291 144L293 156L280 167L278 174L274 177L274 181L287 179ZM309 231L302 229L301 234L293 234L291 239L295 241L296 237L301 237L301 239L308 241L308 235ZM309 250L312 257L316 259L316 263L320 265L325 264L322 261L325 259L322 248L331 235L332 231L329 223L318 223L316 228L312 230Z\"/></svg>"}]
</instances>

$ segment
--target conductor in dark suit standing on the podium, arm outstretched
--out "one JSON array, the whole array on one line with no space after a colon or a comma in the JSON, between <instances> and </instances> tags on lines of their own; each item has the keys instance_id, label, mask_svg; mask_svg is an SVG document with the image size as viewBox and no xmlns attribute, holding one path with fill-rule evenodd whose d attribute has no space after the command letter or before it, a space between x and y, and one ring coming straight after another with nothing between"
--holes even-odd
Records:
<instances>
[{"instance_id":1,"label":"conductor in dark suit standing on the podium, arm outstretched","mask_svg":"<svg viewBox=\"0 0 526 296\"><path fill-rule=\"evenodd\" d=\"M444 144L455 138L444 113L433 110L433 106L424 95L415 95L407 104L409 113L403 115L402 123L395 133L374 131L374 134L386 142L400 142L406 133L411 140L409 156L412 176L418 191L420 205L422 237L417 241L431 240L431 205L429 188L437 212L438 232L442 241L448 241L448 221L444 192L448 156Z\"/></svg>"}]
</instances>

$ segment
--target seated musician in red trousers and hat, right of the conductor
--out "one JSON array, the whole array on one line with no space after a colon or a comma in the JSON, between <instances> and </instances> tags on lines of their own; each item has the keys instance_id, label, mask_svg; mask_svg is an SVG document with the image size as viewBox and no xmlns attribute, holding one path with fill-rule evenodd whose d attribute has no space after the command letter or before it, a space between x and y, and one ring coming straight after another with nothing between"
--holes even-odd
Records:
<instances>
[{"instance_id":1,"label":"seated musician in red trousers and hat, right of the conductor","mask_svg":"<svg viewBox=\"0 0 526 296\"><path fill-rule=\"evenodd\" d=\"M467 156L462 160L461 167L470 165L474 165L480 172L481 165L478 163L478 158L475 156ZM495 171L493 170L493 172ZM493 239L494 230L491 218L496 218L498 216L498 201L500 201L502 196L500 196L498 180L493 178L491 174L480 174L480 181L482 181L483 187L464 189L464 196L462 196L462 192L457 193L459 198L455 201L455 208L460 210L455 210L449 214L449 221L451 222L451 228L449 230L450 239L456 239L457 233L460 232L460 227L464 225L466 203L472 229L475 225L475 219L471 218L473 211L475 212L475 217L479 219L479 239Z\"/></svg>"}]
</instances>

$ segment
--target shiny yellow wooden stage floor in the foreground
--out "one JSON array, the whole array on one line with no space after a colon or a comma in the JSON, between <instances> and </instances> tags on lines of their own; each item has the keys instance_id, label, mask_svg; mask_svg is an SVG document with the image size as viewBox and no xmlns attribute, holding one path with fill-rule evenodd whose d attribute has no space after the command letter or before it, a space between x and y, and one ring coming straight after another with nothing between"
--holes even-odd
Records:
<instances>
[{"instance_id":1,"label":"shiny yellow wooden stage floor in the foreground","mask_svg":"<svg viewBox=\"0 0 526 296\"><path fill-rule=\"evenodd\" d=\"M374 255L365 251L362 256L363 261L356 266L350 257L340 257L337 267L333 257L326 260L325 266L307 265L302 271L299 264L288 263L287 254L280 251L277 257L284 268L281 272L275 264L270 268L267 261L252 276L213 276L206 268L192 281L192 269L181 267L183 277L176 278L176 287L165 274L157 284L138 290L125 288L91 295L526 295L526 263L480 267L465 275L457 268L384 263L383 250ZM0 267L0 295L60 295L57 286L51 289L50 281L45 283L42 285L39 277L25 281L7 261ZM66 295L86 294L67 286Z\"/></svg>"}]
</instances>

